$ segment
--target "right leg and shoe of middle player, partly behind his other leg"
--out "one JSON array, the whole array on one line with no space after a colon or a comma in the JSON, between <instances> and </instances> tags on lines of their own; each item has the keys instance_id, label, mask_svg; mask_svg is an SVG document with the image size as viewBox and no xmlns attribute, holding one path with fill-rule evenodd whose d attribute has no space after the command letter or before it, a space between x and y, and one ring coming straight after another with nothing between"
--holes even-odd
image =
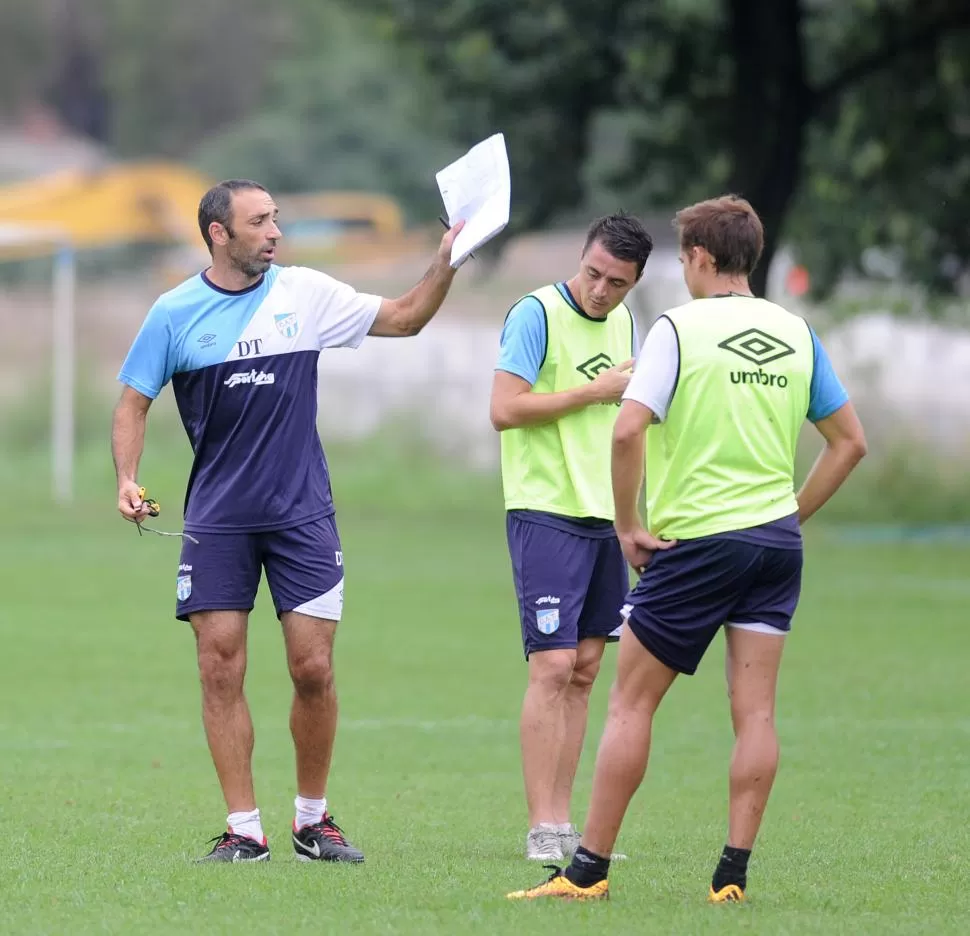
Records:
<instances>
[{"instance_id":1,"label":"right leg and shoe of middle player, partly behind his other leg","mask_svg":"<svg viewBox=\"0 0 970 936\"><path fill-rule=\"evenodd\" d=\"M599 673L606 647L605 637L581 640L576 647L576 665L563 698L563 744L552 789L553 822L560 826L560 843L564 857L569 857L579 844L579 836L570 822L573 784L586 738L589 696ZM562 831L566 829L567 831Z\"/></svg>"}]
</instances>

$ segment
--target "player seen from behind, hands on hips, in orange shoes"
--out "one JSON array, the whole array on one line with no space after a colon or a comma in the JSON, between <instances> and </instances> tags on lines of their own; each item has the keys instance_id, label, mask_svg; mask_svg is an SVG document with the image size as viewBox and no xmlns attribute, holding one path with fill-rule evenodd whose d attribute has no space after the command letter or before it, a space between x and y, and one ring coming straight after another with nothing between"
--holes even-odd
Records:
<instances>
[{"instance_id":1,"label":"player seen from behind, hands on hips, in orange shoes","mask_svg":"<svg viewBox=\"0 0 970 936\"><path fill-rule=\"evenodd\" d=\"M801 524L866 451L812 329L751 294L763 245L751 206L733 196L701 202L677 225L694 299L648 333L613 433L616 530L641 575L624 607L583 840L564 872L512 899L608 895L610 850L643 780L654 713L722 626L735 744L727 844L708 897L744 899L778 765L775 687L801 585ZM796 495L806 417L825 446ZM644 443L646 529L637 507Z\"/></svg>"}]
</instances>

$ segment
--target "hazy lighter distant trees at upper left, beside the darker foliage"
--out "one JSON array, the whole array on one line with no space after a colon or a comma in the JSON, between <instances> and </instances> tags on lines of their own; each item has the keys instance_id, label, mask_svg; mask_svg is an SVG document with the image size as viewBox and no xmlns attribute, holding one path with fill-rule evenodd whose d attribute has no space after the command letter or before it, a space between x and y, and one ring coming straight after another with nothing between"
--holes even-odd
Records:
<instances>
[{"instance_id":1,"label":"hazy lighter distant trees at upper left, beside the darker foliage","mask_svg":"<svg viewBox=\"0 0 970 936\"><path fill-rule=\"evenodd\" d=\"M460 153L424 75L344 0L3 0L0 116L56 107L118 156L277 191L361 188L434 220Z\"/></svg>"}]
</instances>

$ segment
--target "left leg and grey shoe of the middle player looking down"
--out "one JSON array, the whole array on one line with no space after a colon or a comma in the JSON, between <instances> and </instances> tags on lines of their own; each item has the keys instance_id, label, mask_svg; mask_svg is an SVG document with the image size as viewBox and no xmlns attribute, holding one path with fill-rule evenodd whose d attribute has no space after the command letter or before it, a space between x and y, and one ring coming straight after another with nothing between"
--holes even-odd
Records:
<instances>
[{"instance_id":1,"label":"left leg and grey shoe of the middle player looking down","mask_svg":"<svg viewBox=\"0 0 970 936\"><path fill-rule=\"evenodd\" d=\"M519 737L529 812L526 848L528 856L536 860L562 859L554 791L566 736L566 691L575 663L575 650L537 650L529 654L529 683L522 703Z\"/></svg>"}]
</instances>

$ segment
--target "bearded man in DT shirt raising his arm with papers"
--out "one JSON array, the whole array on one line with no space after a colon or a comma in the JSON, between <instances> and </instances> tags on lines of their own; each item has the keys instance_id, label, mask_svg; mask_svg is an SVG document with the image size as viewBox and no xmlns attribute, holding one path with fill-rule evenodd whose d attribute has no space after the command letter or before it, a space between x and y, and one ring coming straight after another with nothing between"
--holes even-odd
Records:
<instances>
[{"instance_id":1,"label":"bearded man in DT shirt raising his arm with papers","mask_svg":"<svg viewBox=\"0 0 970 936\"><path fill-rule=\"evenodd\" d=\"M442 237L425 277L397 299L355 291L302 267L274 264L281 232L272 196L222 182L199 205L212 264L152 306L121 368L112 452L118 509L148 514L138 465L149 407L172 382L194 453L176 578L176 617L195 633L202 720L229 816L202 860L264 861L269 848L253 788L253 723L243 692L246 633L261 569L293 682L293 847L307 861L359 863L327 806L337 727L332 650L344 559L330 475L316 428L323 348L367 335L415 335L441 306L461 225Z\"/></svg>"}]
</instances>

